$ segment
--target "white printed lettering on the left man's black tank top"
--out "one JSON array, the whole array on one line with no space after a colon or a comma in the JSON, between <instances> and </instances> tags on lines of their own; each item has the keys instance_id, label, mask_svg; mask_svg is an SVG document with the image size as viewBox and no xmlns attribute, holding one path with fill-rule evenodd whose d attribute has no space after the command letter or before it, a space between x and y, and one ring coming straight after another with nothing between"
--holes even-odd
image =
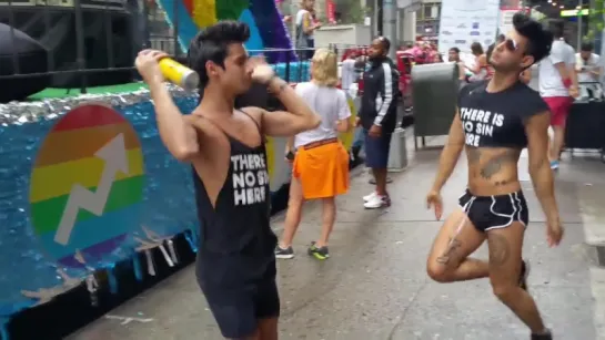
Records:
<instances>
[{"instance_id":1,"label":"white printed lettering on the left man's black tank top","mask_svg":"<svg viewBox=\"0 0 605 340\"><path fill-rule=\"evenodd\" d=\"M264 156L259 154L243 154L231 156L233 168L233 204L249 206L266 200L266 185L269 173Z\"/></svg>"}]
</instances>

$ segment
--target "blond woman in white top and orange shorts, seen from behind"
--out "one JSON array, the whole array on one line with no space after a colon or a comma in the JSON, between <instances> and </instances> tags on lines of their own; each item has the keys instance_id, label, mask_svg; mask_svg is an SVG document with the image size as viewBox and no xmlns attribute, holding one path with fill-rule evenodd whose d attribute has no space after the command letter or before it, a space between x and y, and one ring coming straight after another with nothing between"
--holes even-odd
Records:
<instances>
[{"instance_id":1,"label":"blond woman in white top and orange shorts, seen from behind","mask_svg":"<svg viewBox=\"0 0 605 340\"><path fill-rule=\"evenodd\" d=\"M349 190L349 153L337 135L349 131L351 110L344 91L336 89L337 83L336 54L319 49L311 60L311 82L298 84L296 93L322 117L322 124L294 136L286 148L286 154L294 148L295 156L285 228L275 249L278 258L294 257L292 239L306 199L323 203L321 236L311 243L307 253L317 259L330 257L327 238L336 218L335 196Z\"/></svg>"}]
</instances>

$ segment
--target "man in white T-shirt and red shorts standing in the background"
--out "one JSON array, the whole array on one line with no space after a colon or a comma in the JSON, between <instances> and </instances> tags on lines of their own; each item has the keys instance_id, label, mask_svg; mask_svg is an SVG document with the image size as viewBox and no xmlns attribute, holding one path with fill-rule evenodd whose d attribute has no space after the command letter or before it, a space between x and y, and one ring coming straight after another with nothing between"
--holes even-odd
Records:
<instances>
[{"instance_id":1,"label":"man in white T-shirt and red shorts standing in the background","mask_svg":"<svg viewBox=\"0 0 605 340\"><path fill-rule=\"evenodd\" d=\"M549 158L551 167L557 169L565 138L565 122L573 97L577 97L578 92L574 49L563 39L564 21L559 19L551 21L549 29L554 41L551 55L540 62L538 87L540 94L551 109L554 138L551 141Z\"/></svg>"}]
</instances>

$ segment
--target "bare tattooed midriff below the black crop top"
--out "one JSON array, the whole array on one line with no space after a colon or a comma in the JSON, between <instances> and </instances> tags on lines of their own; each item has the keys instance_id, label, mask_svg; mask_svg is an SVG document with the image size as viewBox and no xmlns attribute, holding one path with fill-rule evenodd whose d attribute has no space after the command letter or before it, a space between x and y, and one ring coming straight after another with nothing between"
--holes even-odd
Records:
<instances>
[{"instance_id":1,"label":"bare tattooed midriff below the black crop top","mask_svg":"<svg viewBox=\"0 0 605 340\"><path fill-rule=\"evenodd\" d=\"M468 189L475 196L505 195L521 189L517 162L521 150L466 146Z\"/></svg>"}]
</instances>

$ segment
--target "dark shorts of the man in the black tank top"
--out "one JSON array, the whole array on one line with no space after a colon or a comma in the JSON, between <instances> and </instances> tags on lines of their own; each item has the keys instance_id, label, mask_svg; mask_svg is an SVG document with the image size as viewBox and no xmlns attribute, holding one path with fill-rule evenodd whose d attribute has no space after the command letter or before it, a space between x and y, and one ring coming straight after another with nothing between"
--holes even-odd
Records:
<instances>
[{"instance_id":1,"label":"dark shorts of the man in the black tank top","mask_svg":"<svg viewBox=\"0 0 605 340\"><path fill-rule=\"evenodd\" d=\"M280 296L274 278L239 287L200 282L208 306L228 339L246 338L256 330L259 319L280 316Z\"/></svg>"}]
</instances>

